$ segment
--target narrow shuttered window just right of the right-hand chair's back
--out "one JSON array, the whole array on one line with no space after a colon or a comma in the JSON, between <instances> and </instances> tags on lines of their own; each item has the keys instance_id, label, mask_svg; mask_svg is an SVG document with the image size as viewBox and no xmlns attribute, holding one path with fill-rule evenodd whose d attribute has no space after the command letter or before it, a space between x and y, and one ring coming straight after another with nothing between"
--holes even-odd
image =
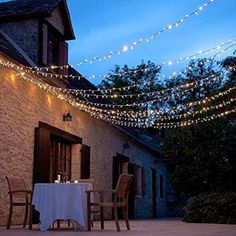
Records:
<instances>
[{"instance_id":1,"label":"narrow shuttered window just right of the right-hand chair's back","mask_svg":"<svg viewBox=\"0 0 236 236\"><path fill-rule=\"evenodd\" d=\"M135 195L144 196L144 167L135 165L134 171Z\"/></svg>"}]
</instances>

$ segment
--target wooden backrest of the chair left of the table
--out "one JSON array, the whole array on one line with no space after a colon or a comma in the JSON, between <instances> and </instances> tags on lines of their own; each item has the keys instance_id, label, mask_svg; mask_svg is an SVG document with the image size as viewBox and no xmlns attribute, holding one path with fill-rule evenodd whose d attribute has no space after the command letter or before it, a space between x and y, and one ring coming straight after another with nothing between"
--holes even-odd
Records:
<instances>
[{"instance_id":1,"label":"wooden backrest of the chair left of the table","mask_svg":"<svg viewBox=\"0 0 236 236\"><path fill-rule=\"evenodd\" d=\"M26 191L25 181L22 178L8 178L6 176L9 194L14 197L26 197L26 193L12 193L12 191Z\"/></svg>"}]
</instances>

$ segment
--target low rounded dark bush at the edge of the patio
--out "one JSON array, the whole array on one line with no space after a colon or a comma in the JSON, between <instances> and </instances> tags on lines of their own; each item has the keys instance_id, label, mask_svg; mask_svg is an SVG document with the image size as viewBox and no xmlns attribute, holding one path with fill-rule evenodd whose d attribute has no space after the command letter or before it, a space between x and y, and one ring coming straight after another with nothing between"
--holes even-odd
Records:
<instances>
[{"instance_id":1,"label":"low rounded dark bush at the edge of the patio","mask_svg":"<svg viewBox=\"0 0 236 236\"><path fill-rule=\"evenodd\" d=\"M236 193L199 194L184 208L184 221L236 224Z\"/></svg>"}]
</instances>

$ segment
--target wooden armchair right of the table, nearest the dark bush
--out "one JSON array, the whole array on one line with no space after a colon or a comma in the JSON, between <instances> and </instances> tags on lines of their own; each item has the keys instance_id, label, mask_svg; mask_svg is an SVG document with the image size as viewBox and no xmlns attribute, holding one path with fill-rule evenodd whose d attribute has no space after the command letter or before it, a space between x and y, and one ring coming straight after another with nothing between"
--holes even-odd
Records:
<instances>
[{"instance_id":1,"label":"wooden armchair right of the table, nearest the dark bush","mask_svg":"<svg viewBox=\"0 0 236 236\"><path fill-rule=\"evenodd\" d=\"M115 218L115 224L116 224L116 229L117 231L120 231L120 225L119 225L119 220L118 220L118 208L123 208L124 209L124 216L125 216L125 222L126 222L126 227L128 230L130 230L130 225L129 225L129 219L128 219L128 202L129 202L129 188L130 188L130 183L132 181L133 175L129 174L121 174L115 190L90 190L86 191L87 193L87 209L88 209L88 230L91 230L91 212L92 212L92 207L94 206L99 206L100 208L100 220L101 220L101 229L104 229L104 213L103 209L104 207L111 207L114 209L114 218ZM91 193L98 193L100 195L99 201L98 202L91 202L90 201L90 195ZM104 200L104 194L105 193L110 193L113 195L113 200L112 201L105 201Z\"/></svg>"}]
</instances>

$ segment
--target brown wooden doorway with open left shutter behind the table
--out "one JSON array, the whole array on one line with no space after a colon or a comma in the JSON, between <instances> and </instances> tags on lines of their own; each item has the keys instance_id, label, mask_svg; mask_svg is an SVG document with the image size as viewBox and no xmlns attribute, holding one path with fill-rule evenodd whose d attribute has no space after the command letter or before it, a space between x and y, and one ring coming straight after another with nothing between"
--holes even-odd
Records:
<instances>
[{"instance_id":1,"label":"brown wooden doorway with open left shutter behind the table","mask_svg":"<svg viewBox=\"0 0 236 236\"><path fill-rule=\"evenodd\" d=\"M35 129L33 184L52 183L57 172L71 178L71 147L82 139L46 123Z\"/></svg>"}]
</instances>

